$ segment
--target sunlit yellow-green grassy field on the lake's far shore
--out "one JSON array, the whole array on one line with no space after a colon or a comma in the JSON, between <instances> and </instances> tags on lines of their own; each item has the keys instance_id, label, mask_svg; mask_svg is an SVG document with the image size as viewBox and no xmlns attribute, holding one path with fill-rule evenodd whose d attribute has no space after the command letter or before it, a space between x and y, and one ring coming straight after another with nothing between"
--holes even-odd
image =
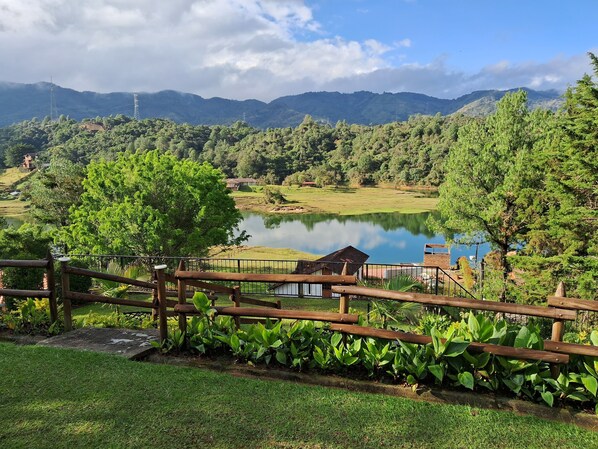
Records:
<instances>
[{"instance_id":1,"label":"sunlit yellow-green grassy field on the lake's far shore","mask_svg":"<svg viewBox=\"0 0 598 449\"><path fill-rule=\"evenodd\" d=\"M283 206L265 205L260 188L252 192L234 192L233 197L241 210L280 213L330 213L359 215L380 212L417 213L436 208L437 198L412 191L363 188L281 187L288 200Z\"/></svg>"}]
</instances>

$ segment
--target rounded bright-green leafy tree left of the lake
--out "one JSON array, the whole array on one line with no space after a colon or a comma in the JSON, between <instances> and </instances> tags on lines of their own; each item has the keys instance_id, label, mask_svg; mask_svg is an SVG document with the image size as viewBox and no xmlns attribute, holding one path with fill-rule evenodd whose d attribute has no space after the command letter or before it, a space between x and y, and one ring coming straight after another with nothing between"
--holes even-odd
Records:
<instances>
[{"instance_id":1,"label":"rounded bright-green leafy tree left of the lake","mask_svg":"<svg viewBox=\"0 0 598 449\"><path fill-rule=\"evenodd\" d=\"M137 151L89 164L80 205L60 235L74 252L203 256L243 241L244 233L235 237L240 220L219 170Z\"/></svg>"}]
</instances>

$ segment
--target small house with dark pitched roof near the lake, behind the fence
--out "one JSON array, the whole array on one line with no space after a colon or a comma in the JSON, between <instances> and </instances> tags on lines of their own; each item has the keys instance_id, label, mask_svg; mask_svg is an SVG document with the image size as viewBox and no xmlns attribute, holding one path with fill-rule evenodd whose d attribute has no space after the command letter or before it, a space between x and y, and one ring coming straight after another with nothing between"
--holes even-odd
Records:
<instances>
[{"instance_id":1,"label":"small house with dark pitched roof near the lake, behind the fence","mask_svg":"<svg viewBox=\"0 0 598 449\"><path fill-rule=\"evenodd\" d=\"M347 264L348 275L358 275L363 267L363 264L370 256L364 252L347 246L336 250L318 260L299 260L297 267L291 274L311 274L316 276L341 274L345 264ZM271 288L276 295L281 296L316 296L323 298L331 298L338 296L333 295L330 286L323 286L322 284L278 284Z\"/></svg>"}]
</instances>

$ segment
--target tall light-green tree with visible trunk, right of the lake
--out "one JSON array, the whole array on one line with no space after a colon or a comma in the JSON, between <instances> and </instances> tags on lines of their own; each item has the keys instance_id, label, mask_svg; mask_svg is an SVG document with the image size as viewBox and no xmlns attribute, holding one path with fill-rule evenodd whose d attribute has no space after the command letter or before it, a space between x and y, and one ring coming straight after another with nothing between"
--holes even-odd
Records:
<instances>
[{"instance_id":1,"label":"tall light-green tree with visible trunk, right of the lake","mask_svg":"<svg viewBox=\"0 0 598 449\"><path fill-rule=\"evenodd\" d=\"M524 215L540 180L531 164L537 134L526 100L523 91L508 94L485 121L461 128L438 202L443 221L437 226L456 240L490 242L505 279L507 253L523 241Z\"/></svg>"}]
</instances>

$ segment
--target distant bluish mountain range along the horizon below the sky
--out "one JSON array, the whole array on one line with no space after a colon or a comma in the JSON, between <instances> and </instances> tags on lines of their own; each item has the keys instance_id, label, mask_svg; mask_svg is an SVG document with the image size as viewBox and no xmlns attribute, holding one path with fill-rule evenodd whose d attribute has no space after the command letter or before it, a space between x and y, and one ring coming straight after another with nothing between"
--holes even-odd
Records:
<instances>
[{"instance_id":1,"label":"distant bluish mountain range along the horizon below the sky","mask_svg":"<svg viewBox=\"0 0 598 449\"><path fill-rule=\"evenodd\" d=\"M50 115L50 88L49 83L0 82L0 127ZM562 103L558 92L526 91L532 108L554 110ZM230 125L236 121L245 121L253 127L266 129L295 127L306 115L331 124L345 121L361 125L403 121L415 114L449 115L463 112L468 115L486 115L494 111L496 102L506 92L478 91L453 100L406 92L309 92L264 103L258 100L205 99L198 95L166 90L139 93L138 98L141 118L167 118L177 123L203 125ZM132 93L78 92L55 86L54 101L57 115L75 120L118 114L133 115Z\"/></svg>"}]
</instances>

